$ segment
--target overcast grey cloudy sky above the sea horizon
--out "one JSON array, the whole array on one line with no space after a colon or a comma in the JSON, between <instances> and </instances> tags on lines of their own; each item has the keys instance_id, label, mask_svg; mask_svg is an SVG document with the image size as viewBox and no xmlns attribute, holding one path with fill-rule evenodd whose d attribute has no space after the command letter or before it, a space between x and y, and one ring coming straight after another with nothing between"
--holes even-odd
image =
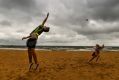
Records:
<instances>
[{"instance_id":1,"label":"overcast grey cloudy sky above the sea horizon","mask_svg":"<svg viewBox=\"0 0 119 80\"><path fill-rule=\"evenodd\" d=\"M37 45L119 45L119 0L0 0L0 45L25 45L47 12Z\"/></svg>"}]
</instances>

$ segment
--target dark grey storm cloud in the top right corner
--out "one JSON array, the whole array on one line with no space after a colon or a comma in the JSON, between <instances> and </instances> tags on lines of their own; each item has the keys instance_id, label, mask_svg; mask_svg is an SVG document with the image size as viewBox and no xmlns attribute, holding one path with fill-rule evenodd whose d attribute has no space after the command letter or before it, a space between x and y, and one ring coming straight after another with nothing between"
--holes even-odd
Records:
<instances>
[{"instance_id":1,"label":"dark grey storm cloud in the top right corner","mask_svg":"<svg viewBox=\"0 0 119 80\"><path fill-rule=\"evenodd\" d=\"M119 20L119 0L87 0L89 13L94 19Z\"/></svg>"}]
</instances>

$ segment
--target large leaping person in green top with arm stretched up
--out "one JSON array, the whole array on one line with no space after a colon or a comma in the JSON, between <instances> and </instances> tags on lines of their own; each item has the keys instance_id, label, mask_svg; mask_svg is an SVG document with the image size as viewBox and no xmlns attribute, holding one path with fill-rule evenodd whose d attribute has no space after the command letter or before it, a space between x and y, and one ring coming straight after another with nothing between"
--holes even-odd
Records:
<instances>
[{"instance_id":1,"label":"large leaping person in green top with arm stretched up","mask_svg":"<svg viewBox=\"0 0 119 80\"><path fill-rule=\"evenodd\" d=\"M35 62L35 70L38 68L39 64L38 64L38 60L37 60L37 56L35 53L35 46L37 43L37 39L38 36L42 33L42 32L49 32L49 27L44 26L44 24L46 23L47 19L48 19L49 13L47 13L47 17L44 19L43 23L41 25L39 25L36 29L34 29L29 36L27 37L23 37L23 39L28 39L27 40L27 47L28 47L28 57L29 57L29 70L31 69L33 62L32 62L32 58L34 59Z\"/></svg>"}]
</instances>

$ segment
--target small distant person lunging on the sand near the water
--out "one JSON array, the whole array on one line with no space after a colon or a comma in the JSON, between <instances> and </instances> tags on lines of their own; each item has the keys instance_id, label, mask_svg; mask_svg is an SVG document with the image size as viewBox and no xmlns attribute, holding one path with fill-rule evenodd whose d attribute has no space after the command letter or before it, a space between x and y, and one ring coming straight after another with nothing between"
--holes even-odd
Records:
<instances>
[{"instance_id":1,"label":"small distant person lunging on the sand near the water","mask_svg":"<svg viewBox=\"0 0 119 80\"><path fill-rule=\"evenodd\" d=\"M104 48L104 44L102 46L100 46L99 44L96 44L95 47L95 51L92 54L92 58L89 60L89 62L91 62L93 59L96 58L96 62L98 61L99 57L100 57L100 51Z\"/></svg>"}]
</instances>

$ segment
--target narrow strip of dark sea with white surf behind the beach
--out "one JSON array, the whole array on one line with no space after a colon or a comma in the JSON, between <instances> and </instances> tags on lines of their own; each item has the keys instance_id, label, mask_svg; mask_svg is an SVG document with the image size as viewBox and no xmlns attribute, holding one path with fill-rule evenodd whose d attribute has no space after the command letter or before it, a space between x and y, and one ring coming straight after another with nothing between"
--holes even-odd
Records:
<instances>
[{"instance_id":1,"label":"narrow strip of dark sea with white surf behind the beach","mask_svg":"<svg viewBox=\"0 0 119 80\"><path fill-rule=\"evenodd\" d=\"M36 50L92 51L94 46L36 46ZM24 45L0 45L0 49L27 50ZM119 51L119 46L105 46L104 51Z\"/></svg>"}]
</instances>

